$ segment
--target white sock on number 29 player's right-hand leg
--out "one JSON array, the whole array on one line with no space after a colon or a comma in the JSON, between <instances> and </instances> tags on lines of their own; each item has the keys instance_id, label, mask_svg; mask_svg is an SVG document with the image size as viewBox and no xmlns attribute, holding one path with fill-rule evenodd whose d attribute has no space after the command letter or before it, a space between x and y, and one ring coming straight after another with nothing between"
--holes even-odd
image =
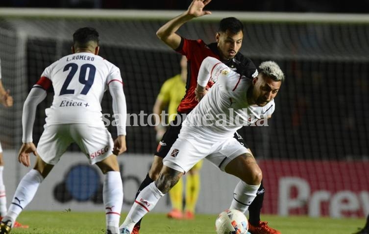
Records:
<instances>
[{"instance_id":1,"label":"white sock on number 29 player's right-hand leg","mask_svg":"<svg viewBox=\"0 0 369 234\"><path fill-rule=\"evenodd\" d=\"M102 200L106 210L106 228L118 230L123 204L123 183L119 171L109 171L104 178ZM114 232L113 232L114 233Z\"/></svg>"}]
</instances>

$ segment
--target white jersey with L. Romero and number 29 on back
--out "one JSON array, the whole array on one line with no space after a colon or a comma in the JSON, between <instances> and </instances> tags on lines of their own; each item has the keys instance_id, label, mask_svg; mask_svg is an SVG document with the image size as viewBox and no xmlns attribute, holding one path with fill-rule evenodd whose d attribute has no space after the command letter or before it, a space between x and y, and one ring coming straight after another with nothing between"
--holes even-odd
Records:
<instances>
[{"instance_id":1,"label":"white jersey with L. Romero and number 29 on back","mask_svg":"<svg viewBox=\"0 0 369 234\"><path fill-rule=\"evenodd\" d=\"M108 84L123 83L117 66L88 52L60 58L45 69L42 78L49 79L54 89L52 105L45 110L48 125L101 125L100 103Z\"/></svg>"}]
</instances>

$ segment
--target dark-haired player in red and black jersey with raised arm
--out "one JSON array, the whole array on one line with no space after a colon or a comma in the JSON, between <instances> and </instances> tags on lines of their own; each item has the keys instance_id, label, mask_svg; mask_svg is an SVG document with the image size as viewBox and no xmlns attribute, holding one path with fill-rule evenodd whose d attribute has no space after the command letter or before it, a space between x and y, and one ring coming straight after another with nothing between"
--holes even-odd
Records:
<instances>
[{"instance_id":1,"label":"dark-haired player in red and black jersey with raised arm","mask_svg":"<svg viewBox=\"0 0 369 234\"><path fill-rule=\"evenodd\" d=\"M186 94L177 109L178 115L159 143L151 168L146 179L141 183L136 197L143 188L157 179L163 166L163 158L168 154L172 144L178 138L184 114L188 114L198 104L195 100L195 92L197 92L197 75L202 60L207 56L212 56L246 77L254 78L258 74L253 62L239 53L244 33L243 24L238 19L234 17L222 19L215 37L216 42L211 44L206 44L201 39L189 40L176 33L180 26L191 19L211 14L210 11L203 10L204 6L210 1L211 0L193 0L187 11L167 22L156 32L160 40L176 52L186 56L188 61L188 78L186 83ZM209 81L208 87L211 87L212 82L214 81ZM246 146L243 138L238 133L235 134L235 138ZM246 146L246 148L248 147ZM250 222L249 232L252 234L280 234L278 231L270 228L266 222L260 221L260 210L264 199L263 183L261 183L257 194L257 197L248 209ZM139 233L140 224L141 220L136 223L132 234Z\"/></svg>"}]
</instances>

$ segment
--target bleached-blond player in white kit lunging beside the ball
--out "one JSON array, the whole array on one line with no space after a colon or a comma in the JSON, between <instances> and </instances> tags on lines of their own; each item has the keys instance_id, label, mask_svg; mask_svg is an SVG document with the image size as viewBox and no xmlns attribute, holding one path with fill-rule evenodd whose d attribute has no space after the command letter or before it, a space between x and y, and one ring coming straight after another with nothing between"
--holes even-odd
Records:
<instances>
[{"instance_id":1,"label":"bleached-blond player in white kit lunging beside the ball","mask_svg":"<svg viewBox=\"0 0 369 234\"><path fill-rule=\"evenodd\" d=\"M204 95L209 79L216 83ZM241 179L230 208L245 212L256 197L262 172L252 153L233 135L245 125L271 117L273 99L283 79L283 72L272 61L261 63L258 76L252 79L232 71L216 58L205 58L196 89L197 99L203 98L184 120L178 139L163 160L158 180L136 198L121 225L121 234L130 234L135 223L202 158Z\"/></svg>"}]
</instances>

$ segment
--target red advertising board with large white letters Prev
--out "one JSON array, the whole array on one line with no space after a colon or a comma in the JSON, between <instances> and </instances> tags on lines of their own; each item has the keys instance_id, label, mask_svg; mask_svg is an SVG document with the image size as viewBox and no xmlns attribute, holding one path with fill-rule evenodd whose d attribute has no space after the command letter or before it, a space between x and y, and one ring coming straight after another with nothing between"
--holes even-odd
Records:
<instances>
[{"instance_id":1,"label":"red advertising board with large white letters Prev","mask_svg":"<svg viewBox=\"0 0 369 234\"><path fill-rule=\"evenodd\" d=\"M369 162L260 160L263 213L364 217L369 213Z\"/></svg>"}]
</instances>

